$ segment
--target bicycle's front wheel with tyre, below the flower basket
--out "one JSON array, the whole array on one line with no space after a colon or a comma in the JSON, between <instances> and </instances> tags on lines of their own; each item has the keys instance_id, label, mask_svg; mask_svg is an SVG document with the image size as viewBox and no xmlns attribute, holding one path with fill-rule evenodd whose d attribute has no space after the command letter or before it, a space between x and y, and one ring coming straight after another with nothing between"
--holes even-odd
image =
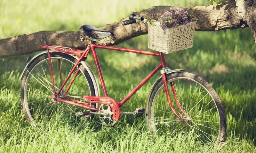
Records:
<instances>
[{"instance_id":1,"label":"bicycle's front wheel with tyre, below the flower basket","mask_svg":"<svg viewBox=\"0 0 256 153\"><path fill-rule=\"evenodd\" d=\"M174 109L185 122L181 122L172 113L164 90L163 81L159 81L149 95L146 112L147 127L158 131L158 135L175 131L183 135L193 135L199 143L223 142L226 135L226 116L216 91L203 78L181 72L166 76L168 89ZM177 99L183 114L175 104L171 88L174 84Z\"/></svg>"}]
</instances>

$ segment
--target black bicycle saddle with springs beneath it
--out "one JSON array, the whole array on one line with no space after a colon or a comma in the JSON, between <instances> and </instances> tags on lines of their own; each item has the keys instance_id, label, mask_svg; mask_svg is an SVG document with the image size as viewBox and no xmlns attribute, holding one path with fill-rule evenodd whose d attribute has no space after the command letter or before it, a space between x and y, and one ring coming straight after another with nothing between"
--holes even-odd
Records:
<instances>
[{"instance_id":1,"label":"black bicycle saddle with springs beneath it","mask_svg":"<svg viewBox=\"0 0 256 153\"><path fill-rule=\"evenodd\" d=\"M89 40L93 41L98 41L109 36L114 36L111 31L99 30L92 25L82 25L79 28L79 31L81 41L84 40L83 35L89 37Z\"/></svg>"}]
</instances>

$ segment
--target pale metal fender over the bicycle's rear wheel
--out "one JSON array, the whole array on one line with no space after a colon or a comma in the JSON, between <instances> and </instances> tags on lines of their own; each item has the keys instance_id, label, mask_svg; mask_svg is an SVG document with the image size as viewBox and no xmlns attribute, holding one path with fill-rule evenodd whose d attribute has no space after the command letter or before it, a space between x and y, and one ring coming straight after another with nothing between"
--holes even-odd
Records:
<instances>
[{"instance_id":1,"label":"pale metal fender over the bicycle's rear wheel","mask_svg":"<svg viewBox=\"0 0 256 153\"><path fill-rule=\"evenodd\" d=\"M54 50L50 50L50 52L55 52L55 51L54 51ZM35 55L33 58L31 58L31 60L30 60L30 61L27 63L27 65L25 66L25 69L23 70L23 72L22 72L22 74L21 74L21 76L20 76L20 80L22 80L22 78L24 77L25 71L27 70L28 66L29 66L33 61L35 61L37 57L39 57L39 56L41 56L41 55L44 55L44 54L47 54L47 51L43 51L43 52L41 52L41 53ZM72 55L72 54L68 54L68 55L74 57L74 58L77 59L77 60L79 59L79 58L76 57L75 55ZM93 86L94 86L94 89L95 89L95 95L96 95L96 96L100 96L100 87L99 87L98 81L97 81L97 79L96 79L96 77L95 77L95 75L94 75L92 69L90 68L90 66L89 66L86 62L81 61L80 63L85 67L85 69L88 71L90 77L92 78L92 83L93 83Z\"/></svg>"}]
</instances>

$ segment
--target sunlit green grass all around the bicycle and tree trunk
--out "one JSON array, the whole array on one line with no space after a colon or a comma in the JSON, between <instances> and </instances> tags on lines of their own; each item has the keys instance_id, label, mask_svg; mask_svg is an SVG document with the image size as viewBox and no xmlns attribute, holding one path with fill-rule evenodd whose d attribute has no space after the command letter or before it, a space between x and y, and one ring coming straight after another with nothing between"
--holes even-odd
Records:
<instances>
[{"instance_id":1,"label":"sunlit green grass all around the bicycle and tree trunk","mask_svg":"<svg viewBox=\"0 0 256 153\"><path fill-rule=\"evenodd\" d=\"M0 1L0 38L41 30L78 30L80 25L100 27L153 5L205 5L207 1ZM107 6L107 7L105 7ZM97 8L99 7L99 8ZM21 20L20 20L20 19ZM17 23L17 24L16 24ZM143 50L147 35L118 46ZM34 54L33 54L34 55ZM115 127L89 124L78 133L56 116L44 127L25 120L20 105L20 74L29 55L0 60L0 152L211 152L194 137L170 132L155 138L145 118L121 115ZM99 50L109 96L120 101L158 64L158 58ZM255 152L256 149L256 44L249 28L196 32L193 48L165 55L171 69L186 69L206 79L217 91L227 116L226 142L213 152ZM87 59L95 74L92 57ZM123 107L145 107L154 76Z\"/></svg>"}]
</instances>

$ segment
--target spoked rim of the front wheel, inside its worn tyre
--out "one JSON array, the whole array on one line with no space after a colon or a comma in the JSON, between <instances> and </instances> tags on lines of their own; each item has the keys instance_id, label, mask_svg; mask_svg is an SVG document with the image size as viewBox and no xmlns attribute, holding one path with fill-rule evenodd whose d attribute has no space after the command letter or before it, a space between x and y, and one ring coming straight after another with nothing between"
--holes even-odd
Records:
<instances>
[{"instance_id":1,"label":"spoked rim of the front wheel, inside its worn tyre","mask_svg":"<svg viewBox=\"0 0 256 153\"><path fill-rule=\"evenodd\" d=\"M188 116L181 113L175 103L170 82L173 82L180 106ZM152 102L150 117L151 129L159 130L159 134L175 130L178 133L194 135L200 143L218 143L220 135L220 115L215 100L210 92L199 82L188 77L177 77L168 81L172 105L181 118L182 123L171 112L164 85L156 92Z\"/></svg>"}]
</instances>

